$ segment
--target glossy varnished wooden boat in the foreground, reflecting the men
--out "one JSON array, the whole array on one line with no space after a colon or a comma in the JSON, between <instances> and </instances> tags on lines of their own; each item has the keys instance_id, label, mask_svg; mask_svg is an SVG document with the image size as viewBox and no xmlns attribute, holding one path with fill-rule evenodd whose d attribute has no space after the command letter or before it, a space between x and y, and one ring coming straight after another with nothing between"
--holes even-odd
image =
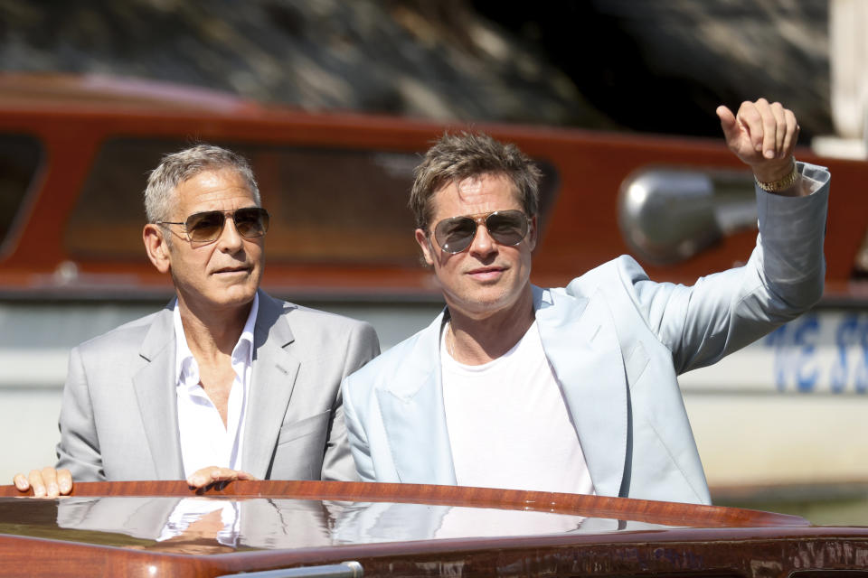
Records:
<instances>
[{"instance_id":1,"label":"glossy varnished wooden boat in the foreground, reflecting the men","mask_svg":"<svg viewBox=\"0 0 868 578\"><path fill-rule=\"evenodd\" d=\"M868 527L518 490L320 481L0 488L5 576L868 576Z\"/></svg>"}]
</instances>

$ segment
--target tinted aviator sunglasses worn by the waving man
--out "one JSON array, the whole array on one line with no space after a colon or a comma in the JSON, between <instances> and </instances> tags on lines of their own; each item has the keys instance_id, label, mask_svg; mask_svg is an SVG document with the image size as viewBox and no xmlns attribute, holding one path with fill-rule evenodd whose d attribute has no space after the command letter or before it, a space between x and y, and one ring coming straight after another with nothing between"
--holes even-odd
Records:
<instances>
[{"instance_id":1,"label":"tinted aviator sunglasses worn by the waving man","mask_svg":"<svg viewBox=\"0 0 868 578\"><path fill-rule=\"evenodd\" d=\"M524 212L515 209L451 217L434 226L434 239L441 249L454 255L470 247L476 229L485 223L491 238L501 245L513 246L527 235L530 222Z\"/></svg>"}]
</instances>

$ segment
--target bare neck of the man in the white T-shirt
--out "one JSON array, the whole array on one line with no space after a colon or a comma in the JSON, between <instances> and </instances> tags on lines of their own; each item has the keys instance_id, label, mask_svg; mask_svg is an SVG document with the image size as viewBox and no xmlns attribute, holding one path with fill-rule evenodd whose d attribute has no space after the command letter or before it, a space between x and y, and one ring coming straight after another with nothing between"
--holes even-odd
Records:
<instances>
[{"instance_id":1,"label":"bare neck of the man in the white T-shirt","mask_svg":"<svg viewBox=\"0 0 868 578\"><path fill-rule=\"evenodd\" d=\"M524 337L534 320L533 293L527 291L509 308L486 317L449 310L446 347L466 365L482 365L504 355Z\"/></svg>"}]
</instances>

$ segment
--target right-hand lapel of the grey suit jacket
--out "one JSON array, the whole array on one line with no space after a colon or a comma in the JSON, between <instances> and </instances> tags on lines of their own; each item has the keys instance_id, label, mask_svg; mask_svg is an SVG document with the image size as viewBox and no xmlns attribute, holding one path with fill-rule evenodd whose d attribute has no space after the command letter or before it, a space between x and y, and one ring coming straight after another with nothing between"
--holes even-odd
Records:
<instances>
[{"instance_id":1,"label":"right-hand lapel of the grey suit jacket","mask_svg":"<svg viewBox=\"0 0 868 578\"><path fill-rule=\"evenodd\" d=\"M259 291L242 458L242 469L257 478L269 471L300 365L287 350L295 338L283 308L283 302Z\"/></svg>"}]
</instances>

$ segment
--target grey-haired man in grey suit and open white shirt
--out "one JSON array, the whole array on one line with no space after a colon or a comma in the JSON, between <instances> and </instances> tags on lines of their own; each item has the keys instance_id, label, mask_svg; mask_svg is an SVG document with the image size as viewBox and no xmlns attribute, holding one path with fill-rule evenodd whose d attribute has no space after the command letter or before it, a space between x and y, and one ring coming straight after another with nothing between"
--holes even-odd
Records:
<instances>
[{"instance_id":1,"label":"grey-haired man in grey suit and open white shirt","mask_svg":"<svg viewBox=\"0 0 868 578\"><path fill-rule=\"evenodd\" d=\"M146 253L176 299L71 351L57 470L72 480L353 480L340 382L379 352L373 328L259 289L269 214L249 164L198 145L148 178Z\"/></svg>"}]
</instances>

